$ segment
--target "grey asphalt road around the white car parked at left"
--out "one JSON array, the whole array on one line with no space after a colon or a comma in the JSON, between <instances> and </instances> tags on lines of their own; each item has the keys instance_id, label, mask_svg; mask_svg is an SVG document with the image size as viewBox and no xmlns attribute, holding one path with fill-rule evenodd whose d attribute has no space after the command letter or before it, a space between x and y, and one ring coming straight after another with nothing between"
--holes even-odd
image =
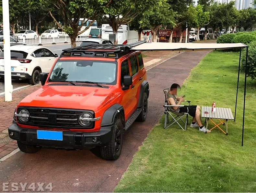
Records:
<instances>
[{"instance_id":1,"label":"grey asphalt road around the white car parked at left","mask_svg":"<svg viewBox=\"0 0 256 193\"><path fill-rule=\"evenodd\" d=\"M79 45L79 42L76 43L77 46ZM44 46L44 45L43 45ZM50 50L52 50L53 53L56 53L58 55L60 55L62 53L62 50L65 48L71 48L71 44L67 43L67 44L53 44L53 45L47 45L45 46L46 48L49 48ZM19 89L19 88L24 88L26 86L30 86L29 85L29 81L28 80L12 80L12 85L13 85L13 89ZM0 79L0 96L4 94L5 91L5 83L3 79Z\"/></svg>"}]
</instances>

